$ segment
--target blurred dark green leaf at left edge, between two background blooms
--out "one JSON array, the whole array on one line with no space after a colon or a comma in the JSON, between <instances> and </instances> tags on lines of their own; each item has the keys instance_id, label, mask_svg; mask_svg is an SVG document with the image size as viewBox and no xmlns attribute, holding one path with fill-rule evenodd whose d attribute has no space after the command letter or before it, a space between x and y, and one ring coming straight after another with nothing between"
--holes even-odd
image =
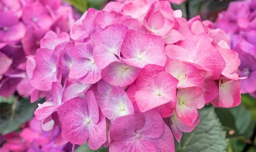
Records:
<instances>
[{"instance_id":1,"label":"blurred dark green leaf at left edge, between two background blooms","mask_svg":"<svg viewBox=\"0 0 256 152\"><path fill-rule=\"evenodd\" d=\"M41 100L40 100L41 101ZM16 130L20 125L34 116L38 102L30 103L29 99L21 99L12 105L0 104L0 132L2 135Z\"/></svg>"}]
</instances>

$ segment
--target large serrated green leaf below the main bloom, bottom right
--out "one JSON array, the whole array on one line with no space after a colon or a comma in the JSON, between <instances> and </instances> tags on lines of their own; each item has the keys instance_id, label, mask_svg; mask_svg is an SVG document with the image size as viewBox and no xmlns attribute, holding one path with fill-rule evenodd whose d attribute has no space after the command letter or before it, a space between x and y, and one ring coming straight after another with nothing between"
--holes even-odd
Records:
<instances>
[{"instance_id":1,"label":"large serrated green leaf below the main bloom, bottom right","mask_svg":"<svg viewBox=\"0 0 256 152\"><path fill-rule=\"evenodd\" d=\"M214 107L199 110L200 123L191 133L183 133L177 152L224 152L227 147L226 131L216 116Z\"/></svg>"}]
</instances>

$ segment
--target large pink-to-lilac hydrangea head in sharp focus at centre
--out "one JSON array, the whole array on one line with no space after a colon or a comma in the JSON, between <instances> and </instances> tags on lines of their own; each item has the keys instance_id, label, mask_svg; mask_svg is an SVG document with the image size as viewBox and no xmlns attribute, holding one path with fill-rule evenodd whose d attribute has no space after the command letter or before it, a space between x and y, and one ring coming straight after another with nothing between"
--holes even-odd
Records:
<instances>
[{"instance_id":1,"label":"large pink-to-lilac hydrangea head in sharp focus at centre","mask_svg":"<svg viewBox=\"0 0 256 152\"><path fill-rule=\"evenodd\" d=\"M173 135L194 130L197 109L240 104L240 60L225 32L181 16L167 1L109 2L70 34L40 40L27 75L31 99L46 98L35 117L61 127L56 145L175 151Z\"/></svg>"}]
</instances>

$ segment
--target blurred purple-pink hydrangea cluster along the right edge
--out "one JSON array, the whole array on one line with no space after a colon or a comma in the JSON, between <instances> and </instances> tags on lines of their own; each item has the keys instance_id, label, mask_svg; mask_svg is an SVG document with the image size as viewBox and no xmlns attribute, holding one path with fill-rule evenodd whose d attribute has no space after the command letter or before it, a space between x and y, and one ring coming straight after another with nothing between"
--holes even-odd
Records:
<instances>
[{"instance_id":1,"label":"blurred purple-pink hydrangea cluster along the right edge","mask_svg":"<svg viewBox=\"0 0 256 152\"><path fill-rule=\"evenodd\" d=\"M256 98L256 1L244 0L229 3L228 9L219 13L214 24L229 36L232 50L239 54L241 93Z\"/></svg>"}]
</instances>

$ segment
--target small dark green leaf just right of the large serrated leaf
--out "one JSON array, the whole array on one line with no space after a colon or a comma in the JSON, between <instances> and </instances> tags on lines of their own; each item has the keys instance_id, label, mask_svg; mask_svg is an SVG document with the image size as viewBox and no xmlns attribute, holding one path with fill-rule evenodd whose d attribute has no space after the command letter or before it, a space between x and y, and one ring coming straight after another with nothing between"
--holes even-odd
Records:
<instances>
[{"instance_id":1,"label":"small dark green leaf just right of the large serrated leaf","mask_svg":"<svg viewBox=\"0 0 256 152\"><path fill-rule=\"evenodd\" d=\"M235 118L228 108L215 108L215 112L224 130L236 131Z\"/></svg>"}]
</instances>

